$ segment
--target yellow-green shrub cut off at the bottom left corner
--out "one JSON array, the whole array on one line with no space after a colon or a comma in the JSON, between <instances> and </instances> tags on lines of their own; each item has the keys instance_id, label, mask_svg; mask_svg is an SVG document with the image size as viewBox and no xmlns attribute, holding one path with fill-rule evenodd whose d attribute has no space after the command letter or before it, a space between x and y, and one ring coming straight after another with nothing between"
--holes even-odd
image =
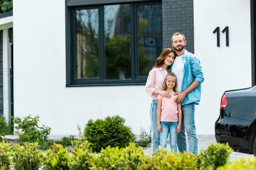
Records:
<instances>
[{"instance_id":1,"label":"yellow-green shrub cut off at the bottom left corner","mask_svg":"<svg viewBox=\"0 0 256 170\"><path fill-rule=\"evenodd\" d=\"M13 156L12 146L9 143L1 142L0 143L0 169L9 170L12 165Z\"/></svg>"}]
</instances>

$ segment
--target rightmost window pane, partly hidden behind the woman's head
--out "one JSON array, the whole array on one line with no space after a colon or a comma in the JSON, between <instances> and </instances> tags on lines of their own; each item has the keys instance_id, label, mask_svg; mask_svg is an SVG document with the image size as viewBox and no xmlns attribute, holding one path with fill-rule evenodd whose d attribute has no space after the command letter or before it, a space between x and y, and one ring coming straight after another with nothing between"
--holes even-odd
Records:
<instances>
[{"instance_id":1,"label":"rightmost window pane, partly hidden behind the woman's head","mask_svg":"<svg viewBox=\"0 0 256 170\"><path fill-rule=\"evenodd\" d=\"M163 50L162 6L137 6L139 76L148 76Z\"/></svg>"}]
</instances>

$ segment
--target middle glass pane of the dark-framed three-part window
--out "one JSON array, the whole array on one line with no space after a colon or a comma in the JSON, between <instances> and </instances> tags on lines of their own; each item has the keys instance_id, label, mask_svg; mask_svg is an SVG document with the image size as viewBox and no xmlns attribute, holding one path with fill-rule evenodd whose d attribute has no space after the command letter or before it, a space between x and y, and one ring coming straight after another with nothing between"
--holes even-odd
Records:
<instances>
[{"instance_id":1,"label":"middle glass pane of the dark-framed three-part window","mask_svg":"<svg viewBox=\"0 0 256 170\"><path fill-rule=\"evenodd\" d=\"M104 6L105 79L131 79L130 4Z\"/></svg>"}]
</instances>

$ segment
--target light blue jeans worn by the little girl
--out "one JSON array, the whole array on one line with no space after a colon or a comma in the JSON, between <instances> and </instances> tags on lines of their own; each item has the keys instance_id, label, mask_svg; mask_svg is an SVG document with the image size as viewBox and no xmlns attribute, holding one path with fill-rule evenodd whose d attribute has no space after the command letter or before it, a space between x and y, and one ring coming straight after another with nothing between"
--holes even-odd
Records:
<instances>
[{"instance_id":1,"label":"light blue jeans worn by the little girl","mask_svg":"<svg viewBox=\"0 0 256 170\"><path fill-rule=\"evenodd\" d=\"M171 145L171 150L173 152L177 152L177 125L178 122L163 122L160 121L160 125L162 126L162 133L160 132L160 146L161 149L166 148L167 144L167 138L168 135L170 134L170 145Z\"/></svg>"}]
</instances>

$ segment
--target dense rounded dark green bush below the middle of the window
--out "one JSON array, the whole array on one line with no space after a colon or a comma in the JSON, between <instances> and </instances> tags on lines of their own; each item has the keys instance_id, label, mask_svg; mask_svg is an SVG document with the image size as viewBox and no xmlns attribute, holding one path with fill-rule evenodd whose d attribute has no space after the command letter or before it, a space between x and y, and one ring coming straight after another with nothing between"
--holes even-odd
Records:
<instances>
[{"instance_id":1,"label":"dense rounded dark green bush below the middle of the window","mask_svg":"<svg viewBox=\"0 0 256 170\"><path fill-rule=\"evenodd\" d=\"M125 125L125 119L120 116L108 116L104 120L90 119L85 125L84 137L90 142L93 151L99 152L108 146L126 147L134 141L135 135L131 127Z\"/></svg>"}]
</instances>

